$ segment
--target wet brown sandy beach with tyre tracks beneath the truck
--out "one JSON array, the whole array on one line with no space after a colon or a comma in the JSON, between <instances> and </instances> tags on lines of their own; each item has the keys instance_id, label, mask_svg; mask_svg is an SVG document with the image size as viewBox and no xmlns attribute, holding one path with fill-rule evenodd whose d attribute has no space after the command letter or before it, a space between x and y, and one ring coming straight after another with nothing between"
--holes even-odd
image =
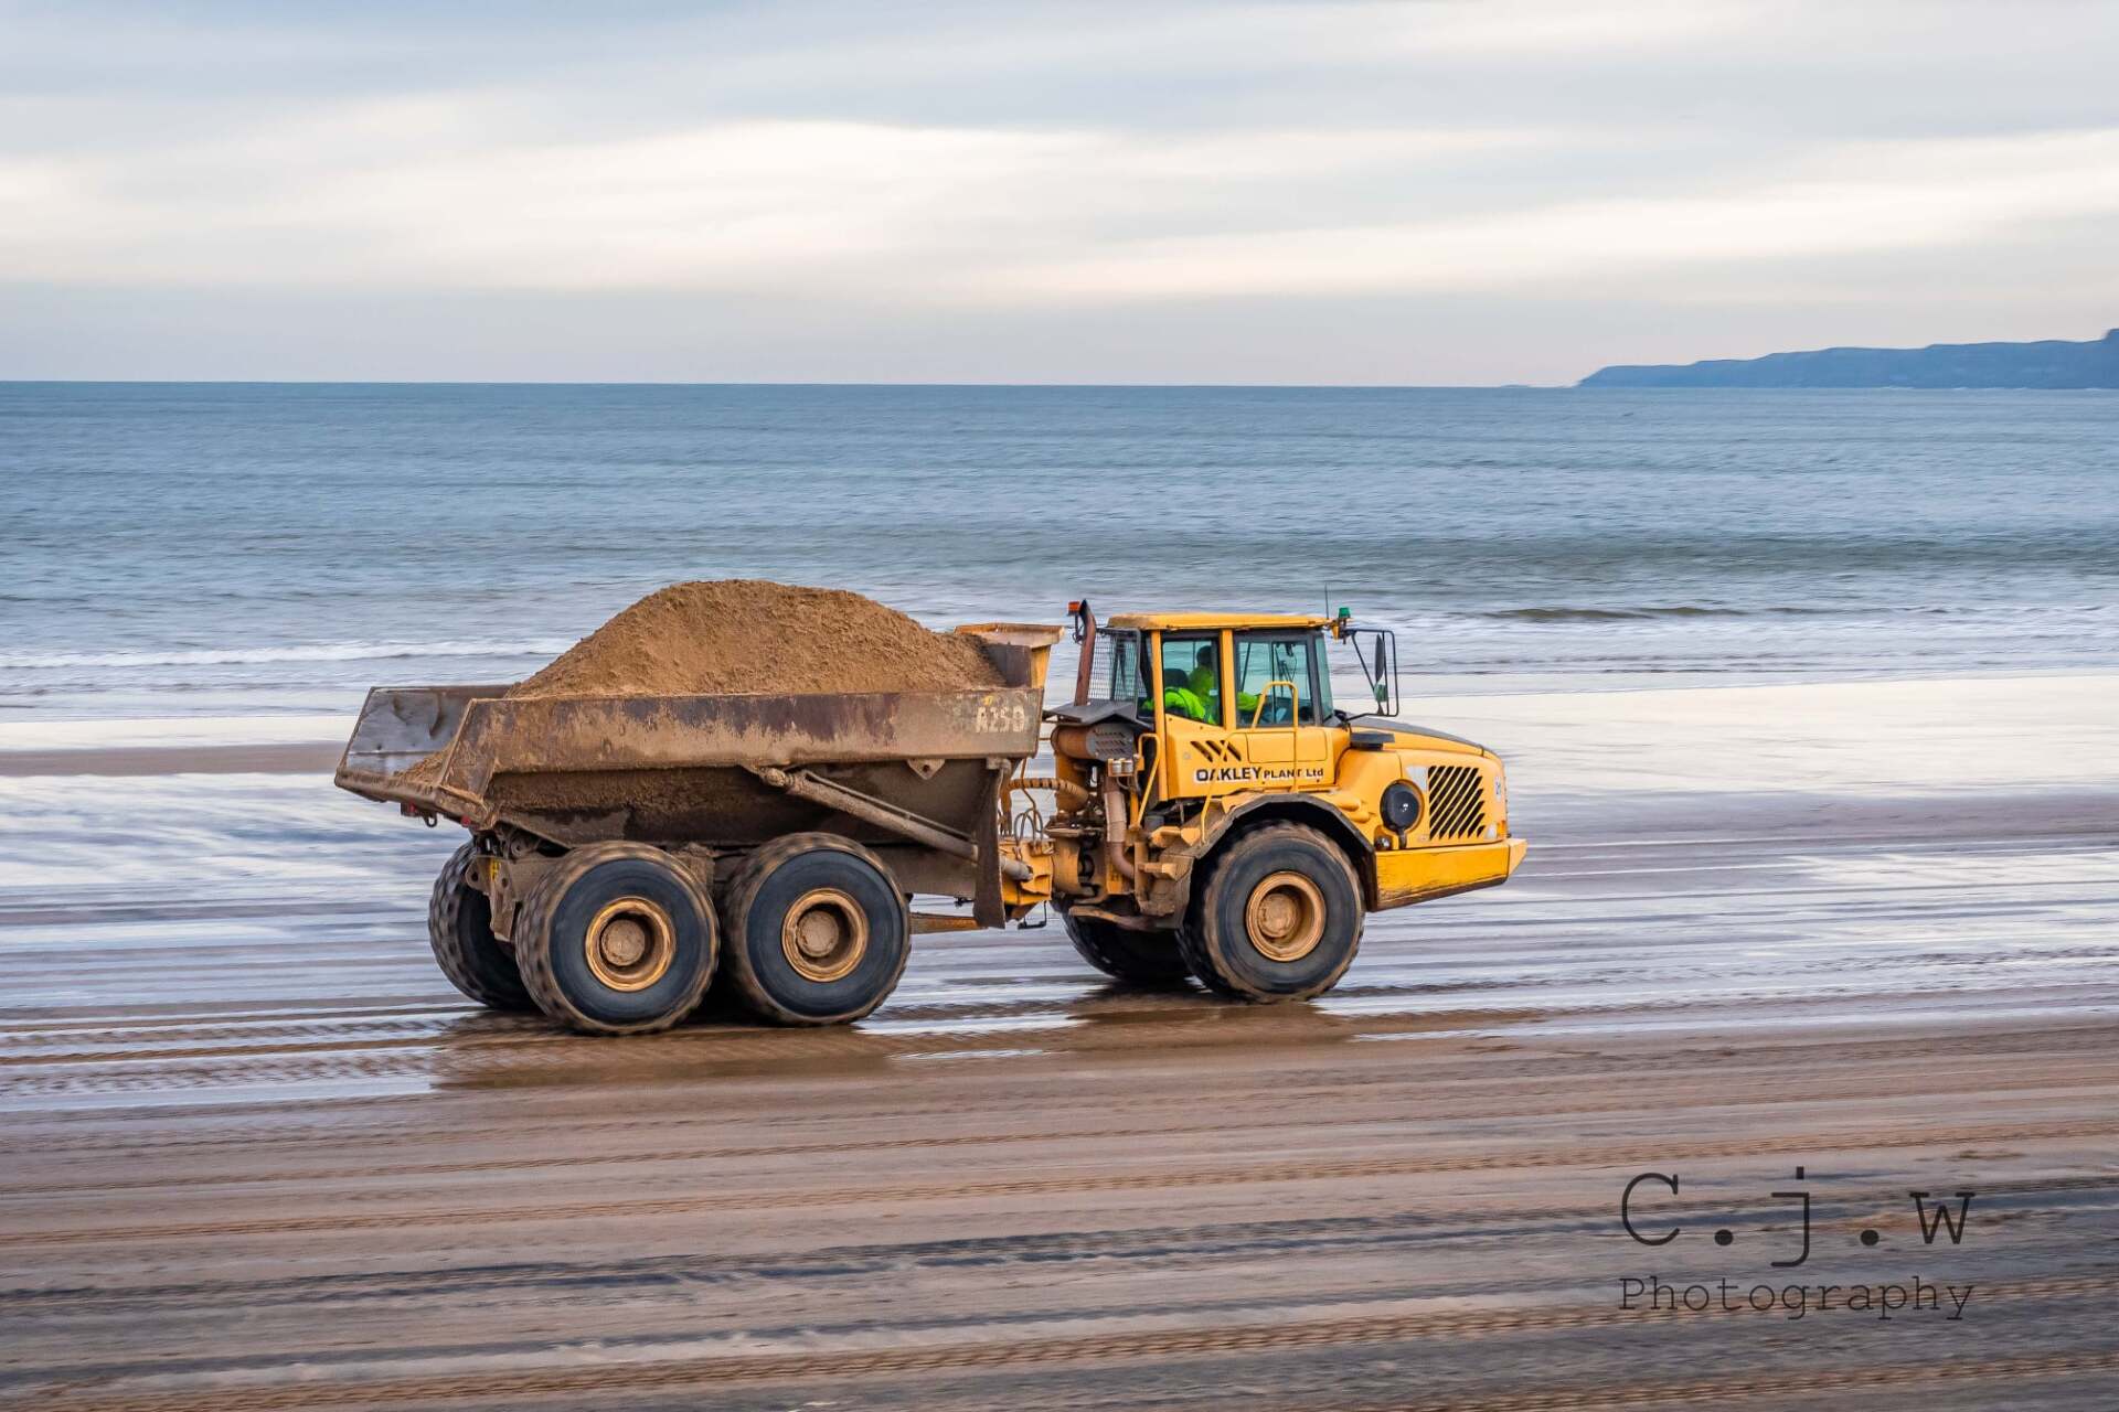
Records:
<instances>
[{"instance_id":1,"label":"wet brown sandy beach with tyre tracks beneath the truck","mask_svg":"<svg viewBox=\"0 0 2119 1412\"><path fill-rule=\"evenodd\" d=\"M420 876L0 874L0 1399L2119 1404L2111 762L1532 756L1524 874L1373 919L1310 1006L1119 991L1049 927L922 938L852 1031L593 1042L458 1001ZM1962 1243L1909 1192L1973 1192Z\"/></svg>"}]
</instances>

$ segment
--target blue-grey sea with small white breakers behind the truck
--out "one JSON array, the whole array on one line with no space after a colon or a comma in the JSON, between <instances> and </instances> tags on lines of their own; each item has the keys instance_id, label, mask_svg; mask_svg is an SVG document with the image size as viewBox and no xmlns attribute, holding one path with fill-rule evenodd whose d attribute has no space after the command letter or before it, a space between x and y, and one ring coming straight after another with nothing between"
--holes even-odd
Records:
<instances>
[{"instance_id":1,"label":"blue-grey sea with small white breakers behind the truck","mask_svg":"<svg viewBox=\"0 0 2119 1412\"><path fill-rule=\"evenodd\" d=\"M2119 394L0 383L0 722L509 682L737 576L1346 605L1409 694L2108 669Z\"/></svg>"}]
</instances>

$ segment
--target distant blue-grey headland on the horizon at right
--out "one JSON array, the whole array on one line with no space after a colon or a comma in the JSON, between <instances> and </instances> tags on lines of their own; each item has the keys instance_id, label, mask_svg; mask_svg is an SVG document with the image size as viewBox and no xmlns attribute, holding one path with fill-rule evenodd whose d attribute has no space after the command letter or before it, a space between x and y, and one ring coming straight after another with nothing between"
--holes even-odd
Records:
<instances>
[{"instance_id":1,"label":"distant blue-grey headland on the horizon at right","mask_svg":"<svg viewBox=\"0 0 2119 1412\"><path fill-rule=\"evenodd\" d=\"M2089 343L1930 343L1598 368L1581 387L2119 387L2119 328Z\"/></svg>"}]
</instances>

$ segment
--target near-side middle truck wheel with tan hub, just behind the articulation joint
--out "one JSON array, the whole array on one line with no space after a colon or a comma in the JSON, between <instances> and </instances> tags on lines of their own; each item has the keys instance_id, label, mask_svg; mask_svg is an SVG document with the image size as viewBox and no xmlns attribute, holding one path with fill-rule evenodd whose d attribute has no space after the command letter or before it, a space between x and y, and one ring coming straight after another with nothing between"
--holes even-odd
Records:
<instances>
[{"instance_id":1,"label":"near-side middle truck wheel with tan hub, just behind the articulation joint","mask_svg":"<svg viewBox=\"0 0 2119 1412\"><path fill-rule=\"evenodd\" d=\"M727 984L776 1025L858 1020L896 989L913 919L875 853L837 834L788 834L729 881Z\"/></svg>"}]
</instances>

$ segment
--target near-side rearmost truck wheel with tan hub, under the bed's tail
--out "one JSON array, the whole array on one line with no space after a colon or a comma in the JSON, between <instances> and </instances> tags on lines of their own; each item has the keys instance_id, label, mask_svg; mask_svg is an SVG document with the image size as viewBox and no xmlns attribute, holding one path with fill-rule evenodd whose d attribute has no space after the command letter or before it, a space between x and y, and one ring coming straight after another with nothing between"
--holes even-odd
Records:
<instances>
[{"instance_id":1,"label":"near-side rearmost truck wheel with tan hub, under the bed's tail","mask_svg":"<svg viewBox=\"0 0 2119 1412\"><path fill-rule=\"evenodd\" d=\"M523 900L515 959L538 1010L589 1035L670 1029L714 978L714 908L661 849L593 843Z\"/></svg>"}]
</instances>

